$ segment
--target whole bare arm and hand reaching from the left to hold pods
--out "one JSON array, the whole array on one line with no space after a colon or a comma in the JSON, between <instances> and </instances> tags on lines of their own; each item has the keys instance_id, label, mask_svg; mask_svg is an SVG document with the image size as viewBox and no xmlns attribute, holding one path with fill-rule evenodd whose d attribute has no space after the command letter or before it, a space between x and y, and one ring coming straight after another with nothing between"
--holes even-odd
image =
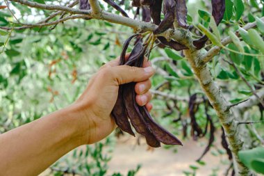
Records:
<instances>
[{"instance_id":1,"label":"whole bare arm and hand reaching from the left to hold pods","mask_svg":"<svg viewBox=\"0 0 264 176\"><path fill-rule=\"evenodd\" d=\"M75 147L108 136L116 127L110 113L119 84L139 82L136 100L151 109L149 77L154 70L117 63L118 59L101 67L74 104L1 134L1 175L38 175Z\"/></svg>"}]
</instances>

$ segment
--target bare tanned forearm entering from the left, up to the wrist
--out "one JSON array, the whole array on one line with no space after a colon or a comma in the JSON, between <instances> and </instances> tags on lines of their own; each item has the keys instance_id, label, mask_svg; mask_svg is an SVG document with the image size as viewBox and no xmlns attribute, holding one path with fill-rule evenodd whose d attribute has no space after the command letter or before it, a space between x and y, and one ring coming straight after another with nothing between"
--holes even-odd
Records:
<instances>
[{"instance_id":1,"label":"bare tanned forearm entering from the left, up to the wrist","mask_svg":"<svg viewBox=\"0 0 264 176\"><path fill-rule=\"evenodd\" d=\"M87 133L84 133L82 120L75 107L69 106L1 134L1 174L38 175L64 154L85 143Z\"/></svg>"}]
</instances>

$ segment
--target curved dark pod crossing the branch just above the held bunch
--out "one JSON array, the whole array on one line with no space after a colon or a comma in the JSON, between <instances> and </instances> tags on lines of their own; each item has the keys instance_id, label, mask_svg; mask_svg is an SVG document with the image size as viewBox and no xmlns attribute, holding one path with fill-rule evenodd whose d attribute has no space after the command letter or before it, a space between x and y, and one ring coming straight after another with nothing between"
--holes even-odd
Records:
<instances>
[{"instance_id":1,"label":"curved dark pod crossing the branch just above the held bunch","mask_svg":"<svg viewBox=\"0 0 264 176\"><path fill-rule=\"evenodd\" d=\"M164 0L164 13L165 17L162 22L158 25L158 28L153 31L154 34L163 33L169 29L174 22L174 12L176 9L176 3L174 0Z\"/></svg>"}]
</instances>

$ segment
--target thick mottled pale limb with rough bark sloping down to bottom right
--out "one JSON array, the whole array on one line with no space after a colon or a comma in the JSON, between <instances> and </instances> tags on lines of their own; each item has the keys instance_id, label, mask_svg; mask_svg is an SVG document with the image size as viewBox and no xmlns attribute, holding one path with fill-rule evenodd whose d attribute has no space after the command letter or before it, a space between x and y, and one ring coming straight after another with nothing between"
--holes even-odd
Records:
<instances>
[{"instance_id":1,"label":"thick mottled pale limb with rough bark sloping down to bottom right","mask_svg":"<svg viewBox=\"0 0 264 176\"><path fill-rule=\"evenodd\" d=\"M204 93L206 93L211 105L215 109L218 118L220 118L222 127L224 127L224 132L229 142L229 148L233 154L237 175L254 175L238 158L238 151L242 150L243 143L238 130L238 121L229 108L229 102L226 101L220 88L213 80L208 65L201 60L203 56L201 51L196 50L195 47L192 46L188 37L186 37L185 43L189 43L190 46L190 49L184 50L185 57L189 61L201 88L204 90Z\"/></svg>"}]
</instances>

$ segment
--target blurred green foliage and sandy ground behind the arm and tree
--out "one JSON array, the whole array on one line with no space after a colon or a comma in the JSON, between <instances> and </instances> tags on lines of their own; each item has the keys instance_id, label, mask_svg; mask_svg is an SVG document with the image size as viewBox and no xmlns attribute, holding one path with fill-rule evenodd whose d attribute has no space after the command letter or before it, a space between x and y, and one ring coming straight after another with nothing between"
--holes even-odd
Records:
<instances>
[{"instance_id":1,"label":"blurred green foliage and sandy ground behind the arm and tree","mask_svg":"<svg viewBox=\"0 0 264 176\"><path fill-rule=\"evenodd\" d=\"M45 2L68 3L65 0ZM134 16L135 8L131 8L130 1L117 3L122 3L129 15ZM0 5L5 3L1 1ZM259 6L260 9L262 7ZM10 3L10 8L21 22L35 23L49 15L49 11L17 3ZM106 4L102 8L115 13ZM246 3L244 14L248 22L261 13L257 8L254 13L249 10ZM188 12L188 22L204 22L206 13L211 12L211 1L188 1ZM0 26L12 27L10 21L14 21L10 11L0 10ZM8 35L0 35L1 133L72 104L92 74L103 63L119 56L124 41L133 35L133 30L126 26L95 19L74 19L52 27L14 29ZM223 38L227 27L236 29L236 22L226 19L220 24ZM133 42L129 51L132 48ZM226 51L216 58L229 56L240 57ZM154 149L147 146L142 136L134 138L117 129L99 143L69 152L41 175L231 175L231 158L229 150L224 148L226 144L220 122L182 53L155 47L150 60L156 68L151 79L154 95L151 115L179 137L183 146L162 145ZM251 96L232 67L220 59L213 60L209 66L230 102ZM251 62L240 61L243 74L251 83L263 83L262 66L254 58ZM251 119L259 120L262 110L254 106L248 113ZM263 134L261 124L249 126ZM253 140L260 143L256 136ZM205 152L204 157L197 161Z\"/></svg>"}]
</instances>

